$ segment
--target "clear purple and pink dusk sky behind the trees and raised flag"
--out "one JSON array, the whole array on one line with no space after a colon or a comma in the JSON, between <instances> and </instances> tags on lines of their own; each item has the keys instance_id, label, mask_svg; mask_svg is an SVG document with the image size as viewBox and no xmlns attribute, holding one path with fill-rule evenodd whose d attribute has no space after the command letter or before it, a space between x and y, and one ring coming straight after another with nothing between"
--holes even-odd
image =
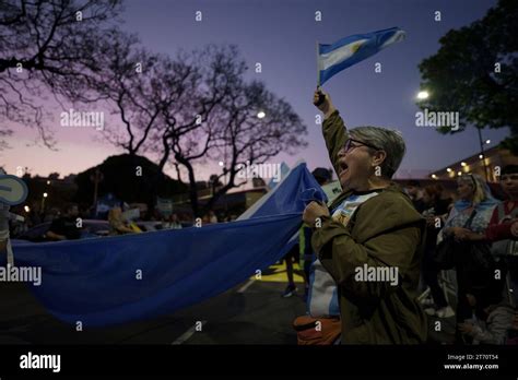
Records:
<instances>
[{"instance_id":1,"label":"clear purple and pink dusk sky behind the trees and raised flag","mask_svg":"<svg viewBox=\"0 0 518 380\"><path fill-rule=\"evenodd\" d=\"M420 85L417 64L434 55L438 39L449 29L468 25L482 17L495 1L429 0L128 0L123 28L134 32L146 48L175 55L177 49L202 48L209 43L235 44L248 63L248 79L262 80L279 97L286 99L308 127L308 147L294 156L280 154L273 163L290 166L304 158L310 169L329 167L330 163L320 132L315 123L318 114L311 104L316 87L315 41L331 44L344 36L399 26L407 39L339 73L327 82L334 105L346 126L380 126L403 133L408 153L400 175L408 170L422 174L447 166L479 152L476 130L469 128L456 135L443 135L433 128L415 127L415 95ZM322 21L315 21L315 12ZM195 21L195 12L203 12L203 21ZM442 12L442 21L434 12ZM261 62L262 73L254 71ZM375 73L375 62L382 72ZM56 110L59 115L61 110ZM0 166L15 173L28 167L33 175L58 171L62 176L82 171L119 154L111 145L96 141L93 128L59 127L59 117L48 120L59 151L26 146L35 133L16 127L8 140L10 150L0 152ZM117 128L108 124L105 128ZM484 130L483 138L494 146L508 134L508 129ZM487 146L487 145L486 145ZM216 168L203 168L208 177ZM414 171L415 170L415 171ZM166 170L173 174L173 170Z\"/></svg>"}]
</instances>

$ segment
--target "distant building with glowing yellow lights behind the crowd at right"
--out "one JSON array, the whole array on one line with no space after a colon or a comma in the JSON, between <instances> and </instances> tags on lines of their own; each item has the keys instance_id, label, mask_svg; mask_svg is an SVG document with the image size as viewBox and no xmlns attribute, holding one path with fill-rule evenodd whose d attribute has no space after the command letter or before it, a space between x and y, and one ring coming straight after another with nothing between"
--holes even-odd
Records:
<instances>
[{"instance_id":1,"label":"distant building with glowing yellow lights behind the crowd at right","mask_svg":"<svg viewBox=\"0 0 518 380\"><path fill-rule=\"evenodd\" d=\"M506 165L518 165L518 157L513 155L509 150L494 146L484 153L485 158L479 153L474 154L439 170L432 171L428 178L455 179L463 173L472 173L480 175L482 178L487 178L488 182L497 182L499 169Z\"/></svg>"}]
</instances>

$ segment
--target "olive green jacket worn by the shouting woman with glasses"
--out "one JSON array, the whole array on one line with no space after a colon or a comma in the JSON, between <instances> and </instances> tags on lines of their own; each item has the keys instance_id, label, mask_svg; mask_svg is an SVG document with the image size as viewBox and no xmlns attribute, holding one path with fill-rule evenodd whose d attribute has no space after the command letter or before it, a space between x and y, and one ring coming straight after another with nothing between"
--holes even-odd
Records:
<instances>
[{"instance_id":1,"label":"olive green jacket worn by the shouting woman with glasses","mask_svg":"<svg viewBox=\"0 0 518 380\"><path fill-rule=\"evenodd\" d=\"M337 173L338 152L348 132L338 111L322 124L326 145ZM330 205L337 207L352 191ZM345 227L322 217L311 245L338 284L342 344L419 344L426 341L427 322L420 307L417 284L425 239L425 221L410 199L392 183L361 204ZM398 269L398 284L357 281L358 268Z\"/></svg>"}]
</instances>

